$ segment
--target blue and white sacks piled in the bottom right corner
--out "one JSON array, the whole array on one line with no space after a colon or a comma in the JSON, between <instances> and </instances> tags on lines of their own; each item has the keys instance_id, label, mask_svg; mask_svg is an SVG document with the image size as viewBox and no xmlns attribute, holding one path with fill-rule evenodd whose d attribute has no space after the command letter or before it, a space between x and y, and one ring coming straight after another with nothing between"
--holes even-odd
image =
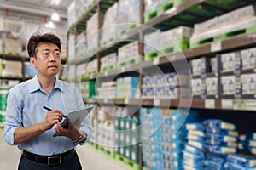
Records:
<instances>
[{"instance_id":1,"label":"blue and white sacks piled in the bottom right corner","mask_svg":"<svg viewBox=\"0 0 256 170\"><path fill-rule=\"evenodd\" d=\"M256 157L245 155L229 155L224 164L225 170L253 170L256 169Z\"/></svg>"}]
</instances>

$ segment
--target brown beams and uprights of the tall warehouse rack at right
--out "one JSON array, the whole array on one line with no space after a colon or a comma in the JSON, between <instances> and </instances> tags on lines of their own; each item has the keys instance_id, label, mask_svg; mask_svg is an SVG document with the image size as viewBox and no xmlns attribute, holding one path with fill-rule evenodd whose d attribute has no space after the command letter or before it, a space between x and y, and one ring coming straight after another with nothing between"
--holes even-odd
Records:
<instances>
[{"instance_id":1,"label":"brown beams and uprights of the tall warehouse rack at right","mask_svg":"<svg viewBox=\"0 0 256 170\"><path fill-rule=\"evenodd\" d=\"M69 29L68 34L74 32L75 34L79 34L83 32L86 28L87 20L90 19L92 14L101 11L100 3L103 1L97 1L93 3L90 8L84 13L83 19L79 19L75 26ZM154 58L152 60L142 59L140 63L135 65L127 65L124 67L120 67L111 71L100 71L100 62L99 59L107 54L111 54L116 52L118 48L124 46L125 44L131 41L140 41L143 42L144 34L147 34L150 30L150 26L155 27L157 29L171 29L176 26L193 26L195 23L199 23L208 19L211 19L215 15L225 14L230 12L233 9L240 8L242 6L246 6L247 4L254 4L253 1L238 1L236 5L230 6L229 8L223 8L216 5L213 5L210 0L189 0L186 1L175 8L170 8L164 14L160 14L155 16L153 19L144 22L143 20L143 1L141 1L141 12L140 12L140 23L143 25L137 25L131 31L125 32L123 35L119 35L113 42L108 42L107 45L101 46L98 43L98 48L96 49L96 53L92 55L84 56L82 59L74 60L72 64L79 65L83 62L88 61L89 57L93 56L94 59L98 59L98 70L96 75L90 75L90 77L84 77L81 81L88 80L96 80L103 79L106 77L115 77L115 75L119 75L120 72L132 72L137 71L139 73L143 73L143 70L150 69L154 65L168 65L170 62L176 62L180 59L196 59L203 55L207 54L221 54L224 52L229 52L234 49L244 49L253 47L256 45L256 33L249 34L241 34L236 37L230 37L228 39L218 41L218 42L209 42L207 44L201 45L196 48L189 48L182 52L176 52L174 54L167 54L166 57ZM111 3L113 4L113 3ZM111 5L109 4L109 6ZM201 8L204 10L211 10L211 14L196 14L195 9ZM106 11L106 8L104 9ZM104 11L104 12L105 12ZM213 12L215 11L215 12ZM184 20L183 15L191 15L194 20ZM172 23L172 20L175 22ZM80 30L80 25L83 25L83 30ZM99 29L102 24L100 24ZM129 40L129 41L127 41ZM143 43L140 44L140 51L138 54L143 56ZM184 57L184 58L183 58ZM129 74L129 73L128 73ZM233 73L230 73L233 74ZM142 78L142 76L140 75ZM140 87L141 88L141 87ZM84 103L86 104L99 104L99 105L140 105L140 106L156 106L160 108L193 108L200 110L221 110L221 111L255 111L253 108L249 109L244 108L241 105L245 105L247 99L84 99ZM251 102L251 101L249 101ZM254 103L252 105L255 105ZM142 162L140 162L142 164Z\"/></svg>"}]
</instances>

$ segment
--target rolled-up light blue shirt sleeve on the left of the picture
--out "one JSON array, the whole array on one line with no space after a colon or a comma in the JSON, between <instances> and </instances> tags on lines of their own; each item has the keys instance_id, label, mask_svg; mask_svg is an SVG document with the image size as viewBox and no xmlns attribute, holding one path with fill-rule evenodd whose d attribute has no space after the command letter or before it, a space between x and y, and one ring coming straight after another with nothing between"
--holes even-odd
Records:
<instances>
[{"instance_id":1,"label":"rolled-up light blue shirt sleeve on the left of the picture","mask_svg":"<svg viewBox=\"0 0 256 170\"><path fill-rule=\"evenodd\" d=\"M4 139L10 145L15 145L14 132L17 127L22 127L20 102L15 96L14 90L10 89L7 98L7 108L5 112Z\"/></svg>"}]
</instances>

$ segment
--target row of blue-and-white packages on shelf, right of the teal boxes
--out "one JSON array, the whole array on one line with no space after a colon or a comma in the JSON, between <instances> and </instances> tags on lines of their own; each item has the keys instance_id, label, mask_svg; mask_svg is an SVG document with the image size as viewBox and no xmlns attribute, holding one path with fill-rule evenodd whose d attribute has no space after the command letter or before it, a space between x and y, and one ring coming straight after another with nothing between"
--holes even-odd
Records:
<instances>
[{"instance_id":1,"label":"row of blue-and-white packages on shelf, right of the teal boxes","mask_svg":"<svg viewBox=\"0 0 256 170\"><path fill-rule=\"evenodd\" d=\"M179 79L183 80L179 81ZM188 80L186 75L177 75L176 72L143 77L143 98L186 98L189 88L185 80ZM181 84L181 82L186 84Z\"/></svg>"}]
</instances>

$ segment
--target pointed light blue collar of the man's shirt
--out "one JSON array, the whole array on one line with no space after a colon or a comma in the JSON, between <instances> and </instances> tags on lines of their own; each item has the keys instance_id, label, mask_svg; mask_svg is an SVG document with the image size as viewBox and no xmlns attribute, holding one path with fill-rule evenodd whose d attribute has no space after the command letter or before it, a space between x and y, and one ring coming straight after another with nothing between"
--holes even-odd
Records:
<instances>
[{"instance_id":1,"label":"pointed light blue collar of the man's shirt","mask_svg":"<svg viewBox=\"0 0 256 170\"><path fill-rule=\"evenodd\" d=\"M28 84L29 93L35 92L37 90L43 91L43 88L41 87L38 76L36 75L31 79L31 83ZM56 77L55 81L55 87L53 89L60 89L62 91L62 82Z\"/></svg>"}]
</instances>

